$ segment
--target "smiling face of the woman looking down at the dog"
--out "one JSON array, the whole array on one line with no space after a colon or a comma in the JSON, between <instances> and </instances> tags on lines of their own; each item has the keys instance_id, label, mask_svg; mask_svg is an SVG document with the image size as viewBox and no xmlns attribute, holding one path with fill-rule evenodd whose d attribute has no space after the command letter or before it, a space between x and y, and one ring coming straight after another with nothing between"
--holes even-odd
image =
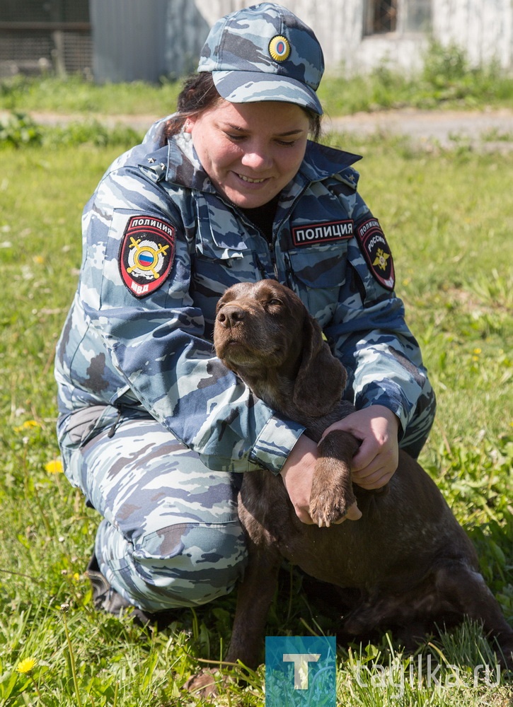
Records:
<instances>
[{"instance_id":1,"label":"smiling face of the woman looking down at the dog","mask_svg":"<svg viewBox=\"0 0 513 707\"><path fill-rule=\"evenodd\" d=\"M216 189L242 209L275 197L299 170L309 117L299 105L220 103L185 123Z\"/></svg>"}]
</instances>

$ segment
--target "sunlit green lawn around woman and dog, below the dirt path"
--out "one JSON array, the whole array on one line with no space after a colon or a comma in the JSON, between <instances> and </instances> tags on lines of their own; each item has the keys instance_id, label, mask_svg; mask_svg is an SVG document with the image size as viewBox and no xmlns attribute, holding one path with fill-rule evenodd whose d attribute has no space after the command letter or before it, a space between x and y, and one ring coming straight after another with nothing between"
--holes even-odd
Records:
<instances>
[{"instance_id":1,"label":"sunlit green lawn around woman and dog, below the dirt path","mask_svg":"<svg viewBox=\"0 0 513 707\"><path fill-rule=\"evenodd\" d=\"M98 141L92 129L35 128L38 140L0 145L0 705L206 704L180 686L197 660L223 654L235 597L177 612L161 633L94 612L83 571L98 517L54 463L52 359L76 286L81 210L133 136L104 129ZM513 154L330 139L364 154L359 188L390 240L398 292L437 390L422 462L475 542L512 622ZM285 573L268 633L333 626L306 601L299 575ZM27 658L32 670L18 672ZM427 682L428 659L442 666L439 684ZM384 636L340 650L339 661L344 706L506 707L513 700L504 677L499 686L482 675L473 682L475 665L495 665L477 626L432 638L415 656ZM260 667L217 704L263 705L263 677Z\"/></svg>"}]
</instances>

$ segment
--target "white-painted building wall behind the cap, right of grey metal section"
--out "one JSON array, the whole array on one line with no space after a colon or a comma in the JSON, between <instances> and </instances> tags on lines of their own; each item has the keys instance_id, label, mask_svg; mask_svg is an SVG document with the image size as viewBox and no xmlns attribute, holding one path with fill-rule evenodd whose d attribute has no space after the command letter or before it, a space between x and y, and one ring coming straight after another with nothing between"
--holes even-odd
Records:
<instances>
[{"instance_id":1,"label":"white-painted building wall behind the cap, right of grey metal section","mask_svg":"<svg viewBox=\"0 0 513 707\"><path fill-rule=\"evenodd\" d=\"M199 54L208 28L217 19L258 2L168 1L173 8L169 25L174 38L171 46L175 67L180 61L190 67L191 57L195 52ZM382 62L406 72L422 65L430 35L401 31L401 8L411 0L399 0L398 32L367 37L363 28L368 0L279 1L313 28L323 47L326 73L367 72ZM473 65L497 60L500 66L513 70L513 0L432 0L432 36L442 45L454 43L464 49Z\"/></svg>"}]
</instances>

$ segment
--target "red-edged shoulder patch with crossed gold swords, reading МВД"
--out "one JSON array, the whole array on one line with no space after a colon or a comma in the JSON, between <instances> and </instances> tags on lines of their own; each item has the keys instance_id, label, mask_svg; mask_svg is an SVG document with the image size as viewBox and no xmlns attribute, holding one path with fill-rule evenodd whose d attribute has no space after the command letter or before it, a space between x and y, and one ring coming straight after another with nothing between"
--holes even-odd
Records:
<instances>
[{"instance_id":1,"label":"red-edged shoulder patch with crossed gold swords, reading \u041c\u0412\u0414","mask_svg":"<svg viewBox=\"0 0 513 707\"><path fill-rule=\"evenodd\" d=\"M132 216L120 247L120 273L136 297L164 284L175 259L175 228L153 216Z\"/></svg>"}]
</instances>

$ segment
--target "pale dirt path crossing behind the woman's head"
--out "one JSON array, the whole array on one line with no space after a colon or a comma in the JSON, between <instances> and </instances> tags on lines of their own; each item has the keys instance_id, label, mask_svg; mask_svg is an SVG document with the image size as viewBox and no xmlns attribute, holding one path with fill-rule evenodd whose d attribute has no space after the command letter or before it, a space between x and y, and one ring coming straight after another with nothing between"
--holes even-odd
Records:
<instances>
[{"instance_id":1,"label":"pale dirt path crossing behind the woman's head","mask_svg":"<svg viewBox=\"0 0 513 707\"><path fill-rule=\"evenodd\" d=\"M0 111L0 120L8 115ZM67 124L96 119L110 127L124 124L143 132L156 120L158 115L97 115L30 112L36 123L41 125ZM513 110L482 111L422 111L410 108L373 113L356 113L323 122L325 132L336 130L369 136L371 134L391 134L408 136L417 145L455 146L470 144L473 148L486 151L513 151Z\"/></svg>"}]
</instances>

